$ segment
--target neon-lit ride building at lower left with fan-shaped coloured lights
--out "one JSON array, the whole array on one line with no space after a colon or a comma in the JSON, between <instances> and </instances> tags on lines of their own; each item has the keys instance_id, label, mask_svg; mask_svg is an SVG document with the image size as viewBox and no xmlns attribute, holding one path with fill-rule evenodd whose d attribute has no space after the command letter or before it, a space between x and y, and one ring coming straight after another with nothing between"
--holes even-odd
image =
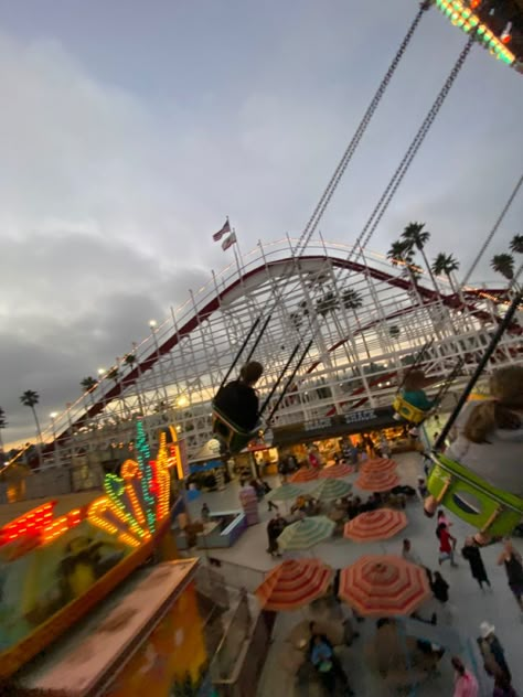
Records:
<instances>
[{"instance_id":1,"label":"neon-lit ride building at lower left with fan-shaped coloured lights","mask_svg":"<svg viewBox=\"0 0 523 697\"><path fill-rule=\"evenodd\" d=\"M160 433L151 459L138 421L135 452L85 508L55 517L50 501L0 529L0 686L17 674L29 688L71 685L71 697L139 694L146 684L159 697L192 694L189 686L199 694L206 654L196 561L172 560L170 533L180 447ZM145 567L153 553L170 560Z\"/></svg>"}]
</instances>

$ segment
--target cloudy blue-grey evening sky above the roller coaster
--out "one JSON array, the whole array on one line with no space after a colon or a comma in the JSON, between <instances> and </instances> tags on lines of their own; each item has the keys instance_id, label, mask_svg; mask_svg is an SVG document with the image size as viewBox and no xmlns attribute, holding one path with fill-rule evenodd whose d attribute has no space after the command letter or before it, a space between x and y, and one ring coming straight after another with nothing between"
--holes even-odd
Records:
<instances>
[{"instance_id":1,"label":"cloudy blue-grey evening sky above the roller coaster","mask_svg":"<svg viewBox=\"0 0 523 697\"><path fill-rule=\"evenodd\" d=\"M42 421L228 259L299 235L416 0L0 0L0 405ZM466 39L424 19L321 224L350 243ZM523 76L476 47L370 248L410 219L463 270L520 174ZM493 245L521 233L523 196ZM520 228L517 228L517 225ZM517 229L516 229L517 228ZM493 279L488 261L476 280Z\"/></svg>"}]
</instances>

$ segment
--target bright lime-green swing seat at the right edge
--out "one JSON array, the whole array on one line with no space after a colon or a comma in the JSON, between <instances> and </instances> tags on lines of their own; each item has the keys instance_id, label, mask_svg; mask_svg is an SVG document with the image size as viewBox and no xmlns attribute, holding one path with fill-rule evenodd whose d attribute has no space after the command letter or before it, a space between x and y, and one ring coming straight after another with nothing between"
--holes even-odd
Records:
<instances>
[{"instance_id":1,"label":"bright lime-green swing seat at the right edge","mask_svg":"<svg viewBox=\"0 0 523 697\"><path fill-rule=\"evenodd\" d=\"M427 487L439 504L492 537L509 535L521 523L523 498L495 489L444 454L430 457Z\"/></svg>"}]
</instances>

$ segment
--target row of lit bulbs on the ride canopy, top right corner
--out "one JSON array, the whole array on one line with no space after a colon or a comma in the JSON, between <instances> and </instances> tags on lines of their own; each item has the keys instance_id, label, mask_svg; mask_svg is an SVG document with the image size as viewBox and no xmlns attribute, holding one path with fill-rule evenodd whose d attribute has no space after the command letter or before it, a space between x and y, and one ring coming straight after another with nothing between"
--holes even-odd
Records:
<instances>
[{"instance_id":1,"label":"row of lit bulbs on the ride canopy, top right corner","mask_svg":"<svg viewBox=\"0 0 523 697\"><path fill-rule=\"evenodd\" d=\"M523 73L523 0L435 0L455 26Z\"/></svg>"}]
</instances>

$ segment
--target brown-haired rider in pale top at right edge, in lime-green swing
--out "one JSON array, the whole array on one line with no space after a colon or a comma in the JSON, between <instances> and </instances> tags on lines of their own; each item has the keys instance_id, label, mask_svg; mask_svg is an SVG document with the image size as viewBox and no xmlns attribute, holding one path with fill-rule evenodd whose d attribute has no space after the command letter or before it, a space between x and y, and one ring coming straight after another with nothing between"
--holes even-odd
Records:
<instances>
[{"instance_id":1,"label":"brown-haired rider in pale top at right edge, in lime-green swing","mask_svg":"<svg viewBox=\"0 0 523 697\"><path fill-rule=\"evenodd\" d=\"M523 366L495 371L490 393L491 399L465 406L446 454L495 489L523 496ZM434 515L437 505L426 498L426 514Z\"/></svg>"}]
</instances>

